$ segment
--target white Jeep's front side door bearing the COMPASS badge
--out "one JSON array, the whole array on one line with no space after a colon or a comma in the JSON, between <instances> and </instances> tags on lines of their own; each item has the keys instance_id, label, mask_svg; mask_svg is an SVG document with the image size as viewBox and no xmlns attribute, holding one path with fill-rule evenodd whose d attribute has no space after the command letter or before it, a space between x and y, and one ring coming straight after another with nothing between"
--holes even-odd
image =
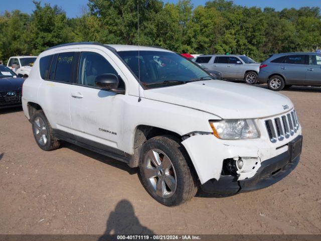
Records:
<instances>
[{"instance_id":1,"label":"white Jeep's front side door bearing the COMPASS badge","mask_svg":"<svg viewBox=\"0 0 321 241\"><path fill-rule=\"evenodd\" d=\"M91 48L82 51L77 83L71 86L69 95L75 138L79 143L121 155L118 144L124 130L125 95L95 85L97 76L106 73L119 76L121 71L105 52Z\"/></svg>"}]
</instances>

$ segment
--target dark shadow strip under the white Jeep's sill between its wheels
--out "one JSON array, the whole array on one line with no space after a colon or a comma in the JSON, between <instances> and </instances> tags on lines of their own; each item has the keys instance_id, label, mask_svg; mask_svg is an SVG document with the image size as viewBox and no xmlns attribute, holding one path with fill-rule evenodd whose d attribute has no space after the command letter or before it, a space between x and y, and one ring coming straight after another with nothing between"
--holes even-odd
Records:
<instances>
[{"instance_id":1,"label":"dark shadow strip under the white Jeep's sill between its wheels","mask_svg":"<svg viewBox=\"0 0 321 241\"><path fill-rule=\"evenodd\" d=\"M85 148L76 146L76 145L71 144L71 143L63 142L62 145L61 145L61 148L68 148L68 149L70 149L72 151L78 152L78 153L80 153L82 155L85 155L87 157L93 158L93 159L95 159L97 161L106 163L106 164L111 165L113 167L119 168L119 169L121 169L123 171L126 171L130 175L136 174L138 172L138 168L130 168L126 163L123 163L121 161L117 161L115 159L106 157L104 155L101 155L99 153L87 150Z\"/></svg>"}]
</instances>

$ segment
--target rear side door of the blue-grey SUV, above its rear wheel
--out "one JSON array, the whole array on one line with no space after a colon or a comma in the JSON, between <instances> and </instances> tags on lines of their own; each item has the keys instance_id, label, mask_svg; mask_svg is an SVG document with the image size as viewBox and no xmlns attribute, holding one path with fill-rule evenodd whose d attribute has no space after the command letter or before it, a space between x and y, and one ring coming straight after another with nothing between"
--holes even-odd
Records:
<instances>
[{"instance_id":1,"label":"rear side door of the blue-grey SUV, above its rear wheel","mask_svg":"<svg viewBox=\"0 0 321 241\"><path fill-rule=\"evenodd\" d=\"M287 55L279 65L279 71L285 76L286 84L303 84L308 67L308 55Z\"/></svg>"}]
</instances>

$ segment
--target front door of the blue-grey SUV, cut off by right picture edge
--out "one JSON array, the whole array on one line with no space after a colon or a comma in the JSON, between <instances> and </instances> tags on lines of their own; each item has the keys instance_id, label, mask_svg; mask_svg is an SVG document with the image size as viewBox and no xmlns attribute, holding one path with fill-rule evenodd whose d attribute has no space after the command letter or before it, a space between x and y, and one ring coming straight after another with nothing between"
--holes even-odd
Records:
<instances>
[{"instance_id":1,"label":"front door of the blue-grey SUV, cut off by right picture edge","mask_svg":"<svg viewBox=\"0 0 321 241\"><path fill-rule=\"evenodd\" d=\"M307 84L321 84L321 56L309 55L309 65L306 70L305 83Z\"/></svg>"}]
</instances>

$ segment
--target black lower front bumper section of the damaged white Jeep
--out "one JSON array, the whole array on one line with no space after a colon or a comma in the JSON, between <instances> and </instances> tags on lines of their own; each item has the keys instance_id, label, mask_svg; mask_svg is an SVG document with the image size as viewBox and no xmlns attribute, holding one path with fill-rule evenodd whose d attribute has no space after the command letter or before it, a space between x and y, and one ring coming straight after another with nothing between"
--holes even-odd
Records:
<instances>
[{"instance_id":1,"label":"black lower front bumper section of the damaged white Jeep","mask_svg":"<svg viewBox=\"0 0 321 241\"><path fill-rule=\"evenodd\" d=\"M201 185L203 191L216 194L236 194L268 187L286 177L298 164L302 147L302 136L288 144L288 151L261 163L256 174L244 180L236 176L221 176Z\"/></svg>"}]
</instances>

